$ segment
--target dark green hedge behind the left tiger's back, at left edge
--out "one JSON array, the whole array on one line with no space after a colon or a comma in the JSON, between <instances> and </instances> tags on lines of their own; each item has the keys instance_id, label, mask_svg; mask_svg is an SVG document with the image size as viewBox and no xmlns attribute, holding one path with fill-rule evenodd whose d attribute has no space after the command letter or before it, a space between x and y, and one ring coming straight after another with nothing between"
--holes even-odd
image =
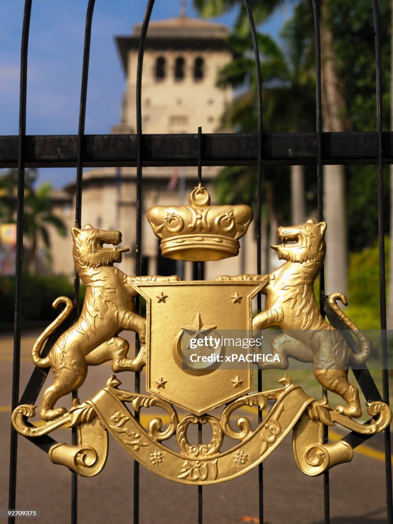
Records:
<instances>
[{"instance_id":1,"label":"dark green hedge behind the left tiger's back, at left edge","mask_svg":"<svg viewBox=\"0 0 393 524\"><path fill-rule=\"evenodd\" d=\"M58 315L51 304L60 296L73 297L73 285L64 276L36 276L25 274L22 279L21 319L22 321L51 321ZM85 288L81 287L81 300ZM1 322L14 320L15 278L0 278Z\"/></svg>"}]
</instances>

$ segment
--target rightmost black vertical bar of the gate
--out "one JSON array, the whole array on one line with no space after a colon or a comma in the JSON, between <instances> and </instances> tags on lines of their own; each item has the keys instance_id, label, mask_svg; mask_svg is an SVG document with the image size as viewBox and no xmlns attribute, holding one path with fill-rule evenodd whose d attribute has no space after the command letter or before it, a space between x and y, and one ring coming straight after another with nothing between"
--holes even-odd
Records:
<instances>
[{"instance_id":1,"label":"rightmost black vertical bar of the gate","mask_svg":"<svg viewBox=\"0 0 393 524\"><path fill-rule=\"evenodd\" d=\"M385 280L385 238L384 238L384 168L382 150L382 75L381 46L379 31L378 1L372 0L375 38L375 83L377 103L377 149L378 149L378 245L379 245L379 308L381 324L381 358L384 402L389 403L389 379L387 369L387 333L386 333L386 280ZM390 428L385 436L385 474L386 474L386 507L387 518L393 522L393 497L391 475L391 442Z\"/></svg>"}]
</instances>

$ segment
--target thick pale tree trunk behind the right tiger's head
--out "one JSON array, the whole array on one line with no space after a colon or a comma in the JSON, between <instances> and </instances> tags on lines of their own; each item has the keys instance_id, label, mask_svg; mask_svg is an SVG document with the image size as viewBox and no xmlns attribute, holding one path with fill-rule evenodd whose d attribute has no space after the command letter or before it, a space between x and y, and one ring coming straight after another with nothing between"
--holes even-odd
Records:
<instances>
[{"instance_id":1,"label":"thick pale tree trunk behind the right tiger's head","mask_svg":"<svg viewBox=\"0 0 393 524\"><path fill-rule=\"evenodd\" d=\"M323 130L342 132L347 130L345 102L340 81L335 71L336 58L333 35L330 30L326 9L322 5L321 48L322 48L322 115ZM345 205L344 166L324 166L323 170L323 213L328 224L326 229L325 291L347 292L347 225Z\"/></svg>"}]
</instances>

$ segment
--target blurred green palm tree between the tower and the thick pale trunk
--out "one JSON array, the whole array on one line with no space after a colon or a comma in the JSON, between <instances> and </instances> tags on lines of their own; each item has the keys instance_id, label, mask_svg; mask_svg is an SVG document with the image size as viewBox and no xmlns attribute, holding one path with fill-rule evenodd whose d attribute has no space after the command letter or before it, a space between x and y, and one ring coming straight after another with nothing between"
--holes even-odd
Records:
<instances>
[{"instance_id":1,"label":"blurred green palm tree between the tower and the thick pale trunk","mask_svg":"<svg viewBox=\"0 0 393 524\"><path fill-rule=\"evenodd\" d=\"M305 35L304 18L298 17L296 24L289 21L282 31L283 49L268 35L257 34L261 54L261 75L263 83L264 125L267 129L282 132L295 129L309 129L314 117L314 79L311 74L313 63ZM226 88L231 85L240 89L223 115L224 127L235 127L239 132L250 132L257 127L257 90L255 83L255 61L249 38L233 33L228 43L235 58L223 67L217 75L217 85ZM266 244L276 240L277 212L282 211L285 195L282 187L288 185L286 168L264 168L262 225L262 253L266 271L269 271ZM256 204L255 169L248 167L224 168L216 180L219 199L232 203L249 202ZM291 167L292 218L299 223L305 217L304 182L302 166ZM275 204L280 195L279 205ZM284 208L284 209L283 209ZM285 219L288 220L288 219ZM267 239L267 226L269 239ZM271 263L276 263L272 259Z\"/></svg>"}]
</instances>

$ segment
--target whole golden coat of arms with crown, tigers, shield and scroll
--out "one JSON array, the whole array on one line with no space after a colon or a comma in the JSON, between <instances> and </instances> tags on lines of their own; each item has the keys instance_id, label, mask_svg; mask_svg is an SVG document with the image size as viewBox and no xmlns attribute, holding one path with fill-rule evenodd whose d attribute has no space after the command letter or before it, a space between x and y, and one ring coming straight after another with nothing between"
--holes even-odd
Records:
<instances>
[{"instance_id":1,"label":"whole golden coat of arms with crown, tigers, shield and scroll","mask_svg":"<svg viewBox=\"0 0 393 524\"><path fill-rule=\"evenodd\" d=\"M238 254L238 238L246 233L252 211L246 205L210 205L208 191L199 184L189 206L157 206L147 217L161 238L164 256L203 261ZM53 372L42 395L41 421L31 422L36 406L21 405L12 414L15 429L34 439L64 425L78 427L78 445L55 443L49 456L83 476L104 467L108 432L149 470L183 484L215 484L242 475L264 461L290 431L303 473L319 475L350 461L353 450L344 439L324 443L324 424L373 434L387 427L391 411L376 400L367 405L368 422L353 420L362 412L348 367L366 361L371 343L336 304L346 302L341 293L331 294L328 304L355 335L357 353L319 312L313 283L325 256L325 228L324 222L313 220L279 227L280 244L272 247L284 260L282 266L270 275L225 275L215 281L125 275L114 266L126 250L117 247L120 232L91 225L73 228L75 268L86 286L82 312L41 356L49 336L72 311L67 297L53 302L53 307L64 308L32 348L36 366ZM108 244L112 247L105 247ZM258 293L266 295L265 310L253 316L252 300ZM138 295L146 300L146 318L135 311ZM265 355L261 333L271 326L281 331ZM135 358L128 355L123 330L139 336ZM253 342L233 353L228 347L234 333ZM255 392L253 367L287 369L288 357L312 363L316 380L342 403L333 410L326 398L309 397L287 375L280 380L282 387ZM74 402L69 409L59 406L82 385L89 365L104 362L111 362L114 373L146 368L146 394L121 389L121 381L112 375L93 398ZM235 429L236 410L253 406L263 410L263 420L253 429L242 412ZM158 417L147 427L141 425L137 413L150 407L169 417L166 427ZM211 438L191 444L188 429L198 423L210 426ZM169 440L176 445L166 445ZM224 440L233 446L228 449Z\"/></svg>"}]
</instances>

